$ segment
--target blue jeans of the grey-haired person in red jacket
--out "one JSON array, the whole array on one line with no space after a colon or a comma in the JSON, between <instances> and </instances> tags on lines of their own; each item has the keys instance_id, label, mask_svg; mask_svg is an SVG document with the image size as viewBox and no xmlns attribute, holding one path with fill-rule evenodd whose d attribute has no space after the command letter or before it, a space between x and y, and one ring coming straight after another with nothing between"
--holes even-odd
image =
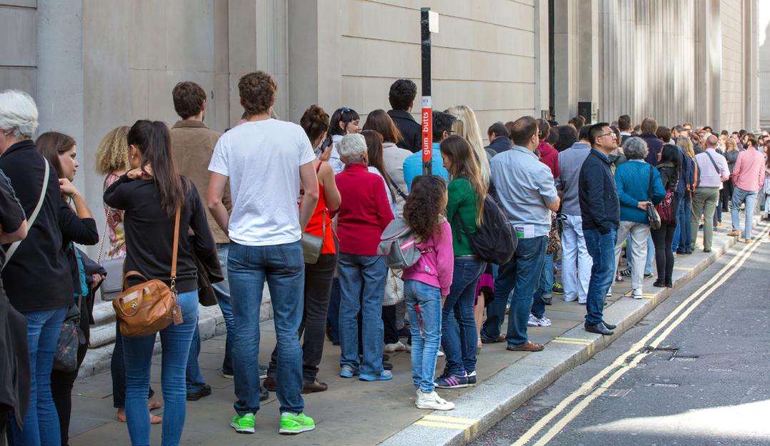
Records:
<instances>
[{"instance_id":1,"label":"blue jeans of the grey-haired person in red jacket","mask_svg":"<svg viewBox=\"0 0 770 446\"><path fill-rule=\"evenodd\" d=\"M348 365L353 367L353 370L361 367L361 374L368 376L377 376L383 372L385 328L382 311L386 274L387 267L383 256L340 253L340 260L337 263L341 290L340 367ZM363 364L358 358L359 310L363 318L361 323Z\"/></svg>"}]
</instances>

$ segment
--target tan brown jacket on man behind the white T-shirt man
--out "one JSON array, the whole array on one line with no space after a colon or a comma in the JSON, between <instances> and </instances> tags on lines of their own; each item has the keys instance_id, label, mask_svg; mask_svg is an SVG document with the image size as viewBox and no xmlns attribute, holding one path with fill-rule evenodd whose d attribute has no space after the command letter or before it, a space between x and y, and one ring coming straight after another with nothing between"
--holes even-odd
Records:
<instances>
[{"instance_id":1,"label":"tan brown jacket on man behind the white T-shirt man","mask_svg":"<svg viewBox=\"0 0 770 446\"><path fill-rule=\"evenodd\" d=\"M171 128L171 146L174 151L174 160L176 169L180 175L184 175L195 184L196 189L203 200L203 209L206 210L206 218L211 226L211 233L216 243L229 243L230 239L227 233L216 224L216 220L209 213L209 207L206 205L206 196L209 193L209 163L214 154L214 147L219 141L221 133L209 129L203 121L179 121ZM233 203L230 200L230 185L225 188L225 195L222 202L227 212L232 212Z\"/></svg>"}]
</instances>

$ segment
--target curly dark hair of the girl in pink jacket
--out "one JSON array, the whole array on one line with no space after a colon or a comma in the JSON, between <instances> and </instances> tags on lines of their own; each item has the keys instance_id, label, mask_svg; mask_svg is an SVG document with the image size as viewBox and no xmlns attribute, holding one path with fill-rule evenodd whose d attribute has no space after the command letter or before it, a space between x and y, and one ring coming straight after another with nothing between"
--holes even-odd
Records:
<instances>
[{"instance_id":1,"label":"curly dark hair of the girl in pink jacket","mask_svg":"<svg viewBox=\"0 0 770 446\"><path fill-rule=\"evenodd\" d=\"M403 220L420 243L428 240L446 221L447 182L437 175L415 176L412 191L403 205Z\"/></svg>"}]
</instances>

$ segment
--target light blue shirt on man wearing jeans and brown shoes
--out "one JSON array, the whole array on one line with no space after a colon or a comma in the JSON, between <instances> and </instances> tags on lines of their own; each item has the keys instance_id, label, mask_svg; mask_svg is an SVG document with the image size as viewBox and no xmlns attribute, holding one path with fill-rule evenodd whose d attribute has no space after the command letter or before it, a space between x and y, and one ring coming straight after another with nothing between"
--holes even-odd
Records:
<instances>
[{"instance_id":1,"label":"light blue shirt on man wearing jeans and brown shoes","mask_svg":"<svg viewBox=\"0 0 770 446\"><path fill-rule=\"evenodd\" d=\"M551 210L546 203L558 200L551 168L531 150L513 146L490 163L497 200L519 238L547 236Z\"/></svg>"}]
</instances>

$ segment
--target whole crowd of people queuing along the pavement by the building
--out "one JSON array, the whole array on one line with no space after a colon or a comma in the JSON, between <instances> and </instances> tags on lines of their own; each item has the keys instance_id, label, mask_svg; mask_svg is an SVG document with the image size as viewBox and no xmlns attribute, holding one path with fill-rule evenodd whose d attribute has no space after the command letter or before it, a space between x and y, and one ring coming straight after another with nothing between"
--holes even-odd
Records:
<instances>
[{"instance_id":1,"label":"whole crowd of people queuing along the pavement by the building","mask_svg":"<svg viewBox=\"0 0 770 446\"><path fill-rule=\"evenodd\" d=\"M327 389L317 377L325 336L340 345L340 377L361 381L390 380L389 355L407 350L417 407L450 410L436 389L474 386L483 344L544 349L527 327L551 325L544 311L554 294L586 305L585 330L613 334L602 313L614 282L630 277L631 297L641 298L654 259L654 287L672 287L675 255L692 253L701 229L710 252L722 212L737 236L745 208L746 243L757 201L770 212L766 134L668 128L653 118L634 127L627 115L561 126L524 116L492 124L484 146L474 111L459 105L433 112L433 175L423 175L410 113L417 86L408 79L390 87L392 109L373 110L363 126L353 109L330 116L317 105L300 125L277 119L277 84L266 72L243 75L238 89L245 112L223 134L204 123L203 88L180 82L172 101L181 120L171 129L139 120L102 139L101 235L72 183L75 140L45 132L33 141L35 102L0 93L0 443L68 444L72 385L107 274L76 244L103 240L105 259L175 290L182 317L159 331L162 402L150 387L156 334L123 335L118 320L111 364L116 417L131 443L149 444L150 424L162 423L162 444L172 445L186 401L211 394L197 359L199 303L222 310L222 373L234 380L239 433L255 431L268 391L280 402L280 433L313 430L302 394ZM513 228L507 263L477 255L484 203L496 203ZM403 270L378 254L397 220L421 253ZM623 248L628 268L618 271ZM563 286L554 280L559 267ZM139 279L126 277L125 286ZM265 283L277 342L260 366ZM73 314L74 370L61 365L68 351L60 342ZM446 367L434 376L439 356ZM163 418L149 413L163 405Z\"/></svg>"}]
</instances>

